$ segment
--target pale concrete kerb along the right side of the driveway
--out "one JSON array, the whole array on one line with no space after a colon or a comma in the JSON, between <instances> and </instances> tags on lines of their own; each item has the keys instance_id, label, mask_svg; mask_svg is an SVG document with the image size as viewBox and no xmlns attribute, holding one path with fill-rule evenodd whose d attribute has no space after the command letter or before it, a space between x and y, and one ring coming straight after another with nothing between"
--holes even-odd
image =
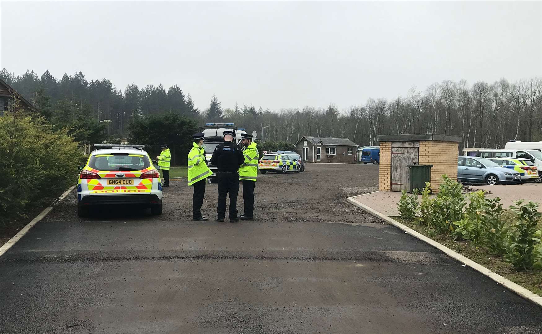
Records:
<instances>
[{"instance_id":1,"label":"pale concrete kerb along the right side of the driveway","mask_svg":"<svg viewBox=\"0 0 542 334\"><path fill-rule=\"evenodd\" d=\"M447 256L449 256L451 258L454 258L457 261L460 261L464 265L467 265L467 266L473 268L474 270L480 272L481 274L483 274L483 275L491 278L492 280L496 281L500 285L506 287L506 289L508 289L508 290L510 290L510 291L512 291L514 293L517 293L517 294L519 294L519 296L521 296L521 297L529 300L530 302L532 302L534 304L537 304L537 305L542 307L542 296L538 296L538 294L533 293L532 291L525 289L525 287L522 287L522 286L520 286L518 284L515 284L513 281L500 276L499 274L497 274L497 273L489 270L488 268L474 262L473 260L470 260L470 259L462 256L461 254L459 254L459 253L457 253L457 252L455 252L453 250L450 250L450 248L448 248L448 247L446 247L446 246L444 246L442 244L437 243L435 240L430 239L428 237L425 237L425 235L412 230L412 228L401 224L397 220L391 219L390 217L388 217L388 216L386 216L386 215L384 215L384 214L370 208L369 206L366 206L365 204L362 204L362 203L354 200L354 197L358 197L358 196L349 197L349 198L347 198L347 200L349 202L351 202L353 205L363 209L363 211L368 212L368 213L372 214L373 216L388 222L389 224L403 230L405 233L408 233L408 234L412 235L412 237L415 237L417 239L420 239L420 240L424 241L425 243L427 243L427 244L437 248L438 250L442 251Z\"/></svg>"}]
</instances>

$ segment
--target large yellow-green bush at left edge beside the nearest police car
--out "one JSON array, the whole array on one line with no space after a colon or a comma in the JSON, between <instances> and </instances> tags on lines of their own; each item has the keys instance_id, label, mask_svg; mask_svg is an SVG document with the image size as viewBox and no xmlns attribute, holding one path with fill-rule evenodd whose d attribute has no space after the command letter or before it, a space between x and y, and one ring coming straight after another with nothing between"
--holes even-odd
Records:
<instances>
[{"instance_id":1,"label":"large yellow-green bush at left edge beside the nearest police car","mask_svg":"<svg viewBox=\"0 0 542 334\"><path fill-rule=\"evenodd\" d=\"M82 159L68 129L23 114L0 117L0 224L74 184Z\"/></svg>"}]
</instances>

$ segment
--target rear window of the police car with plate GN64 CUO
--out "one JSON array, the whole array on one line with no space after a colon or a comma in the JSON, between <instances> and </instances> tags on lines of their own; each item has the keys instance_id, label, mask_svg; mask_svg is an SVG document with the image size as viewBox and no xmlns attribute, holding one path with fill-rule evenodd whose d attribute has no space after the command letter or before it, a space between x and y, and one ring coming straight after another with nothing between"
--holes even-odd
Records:
<instances>
[{"instance_id":1,"label":"rear window of the police car with plate GN64 CUO","mask_svg":"<svg viewBox=\"0 0 542 334\"><path fill-rule=\"evenodd\" d=\"M91 156L88 166L98 171L141 171L151 162L143 154L96 154Z\"/></svg>"}]
</instances>

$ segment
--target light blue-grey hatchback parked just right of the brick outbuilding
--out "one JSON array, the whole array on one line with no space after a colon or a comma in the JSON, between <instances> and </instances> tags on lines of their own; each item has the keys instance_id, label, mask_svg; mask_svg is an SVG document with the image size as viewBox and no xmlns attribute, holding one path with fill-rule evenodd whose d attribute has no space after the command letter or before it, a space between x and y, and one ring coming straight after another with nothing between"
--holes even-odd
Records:
<instances>
[{"instance_id":1,"label":"light blue-grey hatchback parked just right of the brick outbuilding","mask_svg":"<svg viewBox=\"0 0 542 334\"><path fill-rule=\"evenodd\" d=\"M501 167L495 162L478 156L460 156L457 158L457 179L462 182L497 184L517 184L521 176L516 171Z\"/></svg>"}]
</instances>

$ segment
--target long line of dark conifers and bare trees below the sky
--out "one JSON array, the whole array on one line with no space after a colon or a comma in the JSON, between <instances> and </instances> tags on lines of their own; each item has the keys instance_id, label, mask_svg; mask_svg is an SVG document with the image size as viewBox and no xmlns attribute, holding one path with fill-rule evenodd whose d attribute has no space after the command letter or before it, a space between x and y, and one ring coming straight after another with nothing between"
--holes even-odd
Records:
<instances>
[{"instance_id":1,"label":"long line of dark conifers and bare trees below the sky","mask_svg":"<svg viewBox=\"0 0 542 334\"><path fill-rule=\"evenodd\" d=\"M378 145L381 134L442 133L459 135L464 147L502 147L509 140L542 140L542 78L517 82L502 78L488 83L444 80L425 89L412 87L405 96L373 99L340 112L333 104L322 108L256 108L238 103L223 108L216 96L198 110L182 89L162 84L124 91L107 80L87 81L79 72L56 79L49 71L21 76L0 71L7 81L47 117L58 121L93 120L106 133L127 137L130 125L147 116L176 114L199 125L234 122L247 132L256 130L264 141L295 143L304 135L347 137L358 145ZM83 122L84 123L84 122ZM90 141L90 140L89 140Z\"/></svg>"}]
</instances>

